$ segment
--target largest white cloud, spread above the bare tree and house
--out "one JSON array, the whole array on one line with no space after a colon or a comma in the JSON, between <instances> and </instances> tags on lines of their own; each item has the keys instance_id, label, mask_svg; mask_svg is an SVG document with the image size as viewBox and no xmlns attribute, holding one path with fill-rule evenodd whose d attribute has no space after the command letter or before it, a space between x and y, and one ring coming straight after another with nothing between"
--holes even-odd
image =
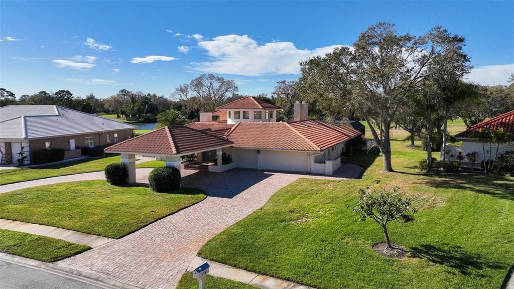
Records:
<instances>
[{"instance_id":1,"label":"largest white cloud, spread above the bare tree and house","mask_svg":"<svg viewBox=\"0 0 514 289\"><path fill-rule=\"evenodd\" d=\"M192 68L219 74L244 76L299 74L300 62L323 56L342 45L314 50L298 49L292 42L258 44L248 35L224 35L198 43L212 61L194 63Z\"/></svg>"}]
</instances>

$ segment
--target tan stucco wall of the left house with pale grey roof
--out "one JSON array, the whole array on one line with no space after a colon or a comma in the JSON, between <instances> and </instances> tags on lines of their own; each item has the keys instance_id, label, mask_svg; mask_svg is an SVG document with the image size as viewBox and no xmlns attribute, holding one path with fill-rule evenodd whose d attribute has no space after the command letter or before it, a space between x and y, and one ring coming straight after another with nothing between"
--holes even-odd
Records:
<instances>
[{"instance_id":1,"label":"tan stucco wall of the left house with pale grey roof","mask_svg":"<svg viewBox=\"0 0 514 289\"><path fill-rule=\"evenodd\" d=\"M91 134L80 134L80 135L71 135L71 136L63 136L63 137L52 137L52 138L42 138L42 139L33 139L29 141L30 153L32 154L35 151L45 149L45 142L51 141L52 148L56 149L65 149L70 150L69 140L75 139L75 147L84 147L85 145L85 137L92 136L95 142L95 147L99 146L111 146L114 145L114 134L118 134L118 142L128 139L128 137L132 137L132 130L124 130L124 131L113 131L113 132L105 132L103 134L100 133L91 133ZM107 142L107 135L111 136L111 142Z\"/></svg>"}]
</instances>

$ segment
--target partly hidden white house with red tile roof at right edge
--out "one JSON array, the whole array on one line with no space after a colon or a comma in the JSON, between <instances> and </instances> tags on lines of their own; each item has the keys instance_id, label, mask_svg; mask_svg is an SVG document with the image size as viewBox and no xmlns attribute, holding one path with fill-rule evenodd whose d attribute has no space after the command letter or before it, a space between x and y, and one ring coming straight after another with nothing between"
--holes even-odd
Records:
<instances>
[{"instance_id":1,"label":"partly hidden white house with red tile roof at right edge","mask_svg":"<svg viewBox=\"0 0 514 289\"><path fill-rule=\"evenodd\" d=\"M457 140L462 140L461 146L447 146L446 152L441 152L441 159L443 158L443 153L446 153L446 158L448 160L456 160L456 156L459 152L462 154L467 154L471 152L478 152L476 156L475 166L481 164L484 160L483 153L483 145L485 145L485 153L486 158L489 156L489 143L483 143L479 139L473 137L473 133L480 132L480 130L487 128L493 131L497 131L503 129L506 132L509 132L512 135L512 141L510 143L493 143L492 144L492 154L496 153L496 148L499 146L498 153L503 153L506 151L514 150L514 111L510 111L508 113L499 115L497 117L493 117L489 120L483 121L481 123L477 123L467 129L462 133L458 133L455 135ZM441 149L442 150L442 149ZM463 165L471 165L469 159L463 160Z\"/></svg>"}]
</instances>

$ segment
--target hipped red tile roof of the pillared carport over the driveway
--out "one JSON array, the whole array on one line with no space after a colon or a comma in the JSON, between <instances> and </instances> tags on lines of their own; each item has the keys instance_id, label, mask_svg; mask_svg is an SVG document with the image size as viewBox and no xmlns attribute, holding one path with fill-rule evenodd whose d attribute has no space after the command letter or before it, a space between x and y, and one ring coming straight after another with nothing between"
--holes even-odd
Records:
<instances>
[{"instance_id":1,"label":"hipped red tile roof of the pillared carport over the driveway","mask_svg":"<svg viewBox=\"0 0 514 289\"><path fill-rule=\"evenodd\" d=\"M176 155L230 145L232 145L232 142L226 138L217 137L183 125L174 125L116 143L106 148L105 151Z\"/></svg>"}]
</instances>

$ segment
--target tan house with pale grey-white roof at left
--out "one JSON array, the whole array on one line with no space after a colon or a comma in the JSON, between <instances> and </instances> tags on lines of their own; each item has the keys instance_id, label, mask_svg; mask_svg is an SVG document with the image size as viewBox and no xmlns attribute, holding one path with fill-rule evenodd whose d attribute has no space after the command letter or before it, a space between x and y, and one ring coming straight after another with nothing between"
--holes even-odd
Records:
<instances>
[{"instance_id":1,"label":"tan house with pale grey-white roof at left","mask_svg":"<svg viewBox=\"0 0 514 289\"><path fill-rule=\"evenodd\" d=\"M132 137L134 125L56 105L9 105L0 107L0 150L16 164L23 150L65 149L64 158L80 156L82 147L109 146ZM79 149L79 150L78 150Z\"/></svg>"}]
</instances>

